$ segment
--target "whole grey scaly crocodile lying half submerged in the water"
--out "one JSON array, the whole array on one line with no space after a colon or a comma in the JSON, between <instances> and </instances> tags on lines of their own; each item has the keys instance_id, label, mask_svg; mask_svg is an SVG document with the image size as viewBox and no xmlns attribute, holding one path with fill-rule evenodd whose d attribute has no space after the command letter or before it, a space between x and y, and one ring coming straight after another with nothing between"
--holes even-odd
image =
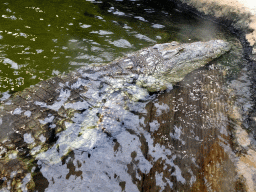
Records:
<instances>
[{"instance_id":1,"label":"whole grey scaly crocodile lying half submerged in the water","mask_svg":"<svg viewBox=\"0 0 256 192\"><path fill-rule=\"evenodd\" d=\"M119 141L118 145L126 150L127 143L121 143L129 138L125 130L133 135L141 133L137 114L144 113L146 103L155 98L154 93L171 90L188 73L230 48L222 40L157 44L109 64L83 67L51 78L4 100L0 106L0 189L1 185L11 191L33 189L38 167L68 166L72 159L68 154L104 148L109 138ZM128 151L132 154L133 149ZM132 158L140 156L143 153ZM119 165L128 164L123 159ZM150 167L142 159L137 166L144 166L142 172ZM117 175L128 177L122 172ZM130 186L127 191L136 191L132 183L125 181ZM101 188L88 191L91 190Z\"/></svg>"}]
</instances>

